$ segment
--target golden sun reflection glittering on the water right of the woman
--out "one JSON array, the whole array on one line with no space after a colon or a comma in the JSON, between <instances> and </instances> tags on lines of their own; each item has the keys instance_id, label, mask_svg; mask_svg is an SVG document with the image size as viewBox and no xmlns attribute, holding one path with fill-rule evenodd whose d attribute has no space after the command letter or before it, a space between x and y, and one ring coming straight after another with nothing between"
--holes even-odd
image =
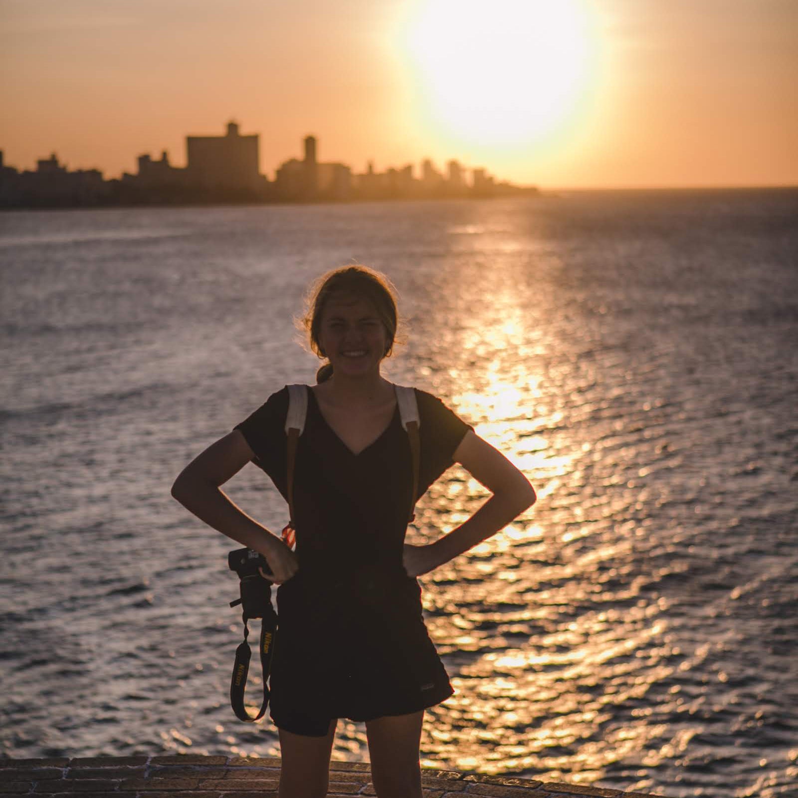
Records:
<instances>
[{"instance_id":1,"label":"golden sun reflection glittering on the water right of the woman","mask_svg":"<svg viewBox=\"0 0 798 798\"><path fill-rule=\"evenodd\" d=\"M468 239L501 238L489 224L473 229ZM650 725L633 725L681 658L668 642L666 604L648 598L659 574L632 565L646 521L630 512L647 500L635 479L646 474L597 468L602 457L634 457L634 444L618 451L611 437L626 424L608 413L609 434L580 437L579 421L610 405L595 390L595 364L583 364L562 322L546 318L547 279L559 279L560 264L536 273L536 305L518 253L538 247L504 238L492 244L492 271L459 264L451 310L427 322L440 348L421 357L431 387L527 475L539 500L422 580L429 630L456 689L429 710L422 749L427 764L590 784L613 762L642 766L658 745L681 745L662 741L664 708L647 706ZM486 496L453 468L419 504L417 535L434 539Z\"/></svg>"}]
</instances>

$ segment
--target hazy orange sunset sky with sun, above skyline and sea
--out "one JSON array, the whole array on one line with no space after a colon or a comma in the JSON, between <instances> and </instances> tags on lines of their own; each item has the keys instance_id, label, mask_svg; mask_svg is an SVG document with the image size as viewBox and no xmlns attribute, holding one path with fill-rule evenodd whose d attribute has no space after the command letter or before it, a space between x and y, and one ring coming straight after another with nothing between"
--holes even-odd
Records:
<instances>
[{"instance_id":1,"label":"hazy orange sunset sky with sun, above skyline and sea","mask_svg":"<svg viewBox=\"0 0 798 798\"><path fill-rule=\"evenodd\" d=\"M235 119L270 179L456 158L544 187L798 184L798 0L0 0L0 149L133 172Z\"/></svg>"}]
</instances>

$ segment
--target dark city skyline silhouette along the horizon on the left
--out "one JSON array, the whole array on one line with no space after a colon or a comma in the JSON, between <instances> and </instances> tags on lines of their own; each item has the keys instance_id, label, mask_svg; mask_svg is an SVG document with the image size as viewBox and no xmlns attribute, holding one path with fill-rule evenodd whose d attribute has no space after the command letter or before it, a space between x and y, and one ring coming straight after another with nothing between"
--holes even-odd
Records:
<instances>
[{"instance_id":1,"label":"dark city skyline silhouette along the horizon on the left","mask_svg":"<svg viewBox=\"0 0 798 798\"><path fill-rule=\"evenodd\" d=\"M369 161L357 173L348 164L318 160L318 139L307 135L302 158L282 161L269 180L259 170L260 134L240 132L230 120L218 135L185 137L186 165L176 167L162 150L137 157L137 171L106 180L99 169L69 171L55 152L35 170L6 165L0 150L0 207L207 204L215 202L346 202L372 199L452 199L535 195L535 187L496 181L482 167L450 159L444 171L431 159L377 172Z\"/></svg>"}]
</instances>

